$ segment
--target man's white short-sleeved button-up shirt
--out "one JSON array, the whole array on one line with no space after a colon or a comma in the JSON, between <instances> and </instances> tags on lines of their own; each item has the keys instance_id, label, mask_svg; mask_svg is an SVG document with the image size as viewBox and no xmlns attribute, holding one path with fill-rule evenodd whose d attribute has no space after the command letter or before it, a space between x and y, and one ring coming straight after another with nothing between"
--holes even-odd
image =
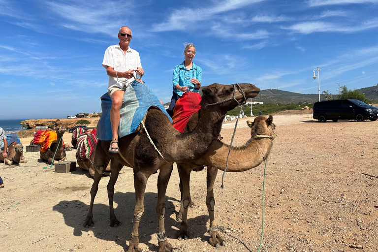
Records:
<instances>
[{"instance_id":1,"label":"man's white short-sleeved button-up shirt","mask_svg":"<svg viewBox=\"0 0 378 252\"><path fill-rule=\"evenodd\" d=\"M121 49L120 44L109 46L106 49L102 66L105 68L111 66L117 72L126 72L128 70L142 67L139 53L128 47L125 54L124 50ZM136 77L136 73L134 73L134 76ZM108 90L113 86L117 86L121 89L125 85L128 87L133 80L134 78L127 79L109 76Z\"/></svg>"}]
</instances>

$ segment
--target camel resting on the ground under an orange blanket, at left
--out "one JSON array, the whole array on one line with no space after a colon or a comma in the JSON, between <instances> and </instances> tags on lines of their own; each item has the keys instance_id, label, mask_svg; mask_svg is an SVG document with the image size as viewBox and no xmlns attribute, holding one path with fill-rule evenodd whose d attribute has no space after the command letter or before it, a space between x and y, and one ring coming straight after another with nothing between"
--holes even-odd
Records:
<instances>
[{"instance_id":1,"label":"camel resting on the ground under an orange blanket, at left","mask_svg":"<svg viewBox=\"0 0 378 252\"><path fill-rule=\"evenodd\" d=\"M48 150L46 150L45 152L40 152L41 159L47 160L48 164L52 164L52 163L56 164L58 162L63 162L63 161L67 160L67 158L65 157L65 150L63 148L63 139L62 139L62 141L60 141L61 138L63 137L64 132L65 132L65 127L57 126L56 132L57 132L58 140L54 140L51 143ZM43 144L42 144L42 146L43 146ZM54 157L54 155L55 155L55 157ZM53 160L53 158L54 158L54 160Z\"/></svg>"}]
</instances>

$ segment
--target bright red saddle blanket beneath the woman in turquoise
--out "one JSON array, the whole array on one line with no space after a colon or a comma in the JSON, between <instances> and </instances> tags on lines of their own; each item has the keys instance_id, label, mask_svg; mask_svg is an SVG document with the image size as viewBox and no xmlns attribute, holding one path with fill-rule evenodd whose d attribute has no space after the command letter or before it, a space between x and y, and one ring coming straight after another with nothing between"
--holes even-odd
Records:
<instances>
[{"instance_id":1,"label":"bright red saddle blanket beneath the woman in turquoise","mask_svg":"<svg viewBox=\"0 0 378 252\"><path fill-rule=\"evenodd\" d=\"M184 132L191 115L197 112L201 106L201 95L194 92L184 93L176 102L173 109L172 126L178 131Z\"/></svg>"}]
</instances>

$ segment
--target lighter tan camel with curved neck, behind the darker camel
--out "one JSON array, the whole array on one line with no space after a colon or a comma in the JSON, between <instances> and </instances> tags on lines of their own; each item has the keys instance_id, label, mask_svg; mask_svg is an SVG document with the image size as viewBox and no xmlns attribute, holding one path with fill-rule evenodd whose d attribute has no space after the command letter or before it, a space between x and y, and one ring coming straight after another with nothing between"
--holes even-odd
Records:
<instances>
[{"instance_id":1,"label":"lighter tan camel with curved neck, behind the darker camel","mask_svg":"<svg viewBox=\"0 0 378 252\"><path fill-rule=\"evenodd\" d=\"M268 157L273 146L275 125L272 116L268 118L258 116L253 123L247 121L247 125L251 127L252 137L245 145L231 148L227 172L247 171L260 165ZM216 139L203 157L191 163L177 163L182 193L181 208L176 216L176 220L181 221L180 230L176 234L179 240L188 239L190 236L188 231L188 207L190 203L192 204L189 191L190 172L202 170L204 166L207 166L206 205L210 217L209 234L211 236L209 243L214 247L225 244L214 217L214 183L218 169L223 171L226 167L228 152L229 145Z\"/></svg>"}]
</instances>

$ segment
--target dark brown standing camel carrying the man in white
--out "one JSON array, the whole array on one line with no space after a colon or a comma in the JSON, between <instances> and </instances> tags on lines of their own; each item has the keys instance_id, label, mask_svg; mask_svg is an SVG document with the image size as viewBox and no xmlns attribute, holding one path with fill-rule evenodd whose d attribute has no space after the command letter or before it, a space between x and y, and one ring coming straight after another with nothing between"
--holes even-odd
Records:
<instances>
[{"instance_id":1,"label":"dark brown standing camel carrying the man in white","mask_svg":"<svg viewBox=\"0 0 378 252\"><path fill-rule=\"evenodd\" d=\"M111 154L110 141L98 140L95 154L95 182L91 189L91 205L84 226L93 224L93 204L98 190L98 182L102 171L111 159L111 176L108 183L110 207L110 225L121 222L114 215L113 195L114 185L123 165L133 167L135 188L134 225L131 233L128 252L140 252L139 222L144 214L144 192L148 178L159 170L158 175L158 244L159 252L171 252L172 246L165 235L165 191L173 169L174 162L190 162L199 159L206 153L209 145L220 131L222 121L228 110L235 108L240 102L255 97L260 92L252 84L238 85L212 84L202 89L202 106L198 112L198 124L191 133L181 133L176 130L166 115L158 109L150 108L145 117L145 126L156 148L150 143L144 129L120 138L120 154ZM99 171L99 172L98 172Z\"/></svg>"}]
</instances>

